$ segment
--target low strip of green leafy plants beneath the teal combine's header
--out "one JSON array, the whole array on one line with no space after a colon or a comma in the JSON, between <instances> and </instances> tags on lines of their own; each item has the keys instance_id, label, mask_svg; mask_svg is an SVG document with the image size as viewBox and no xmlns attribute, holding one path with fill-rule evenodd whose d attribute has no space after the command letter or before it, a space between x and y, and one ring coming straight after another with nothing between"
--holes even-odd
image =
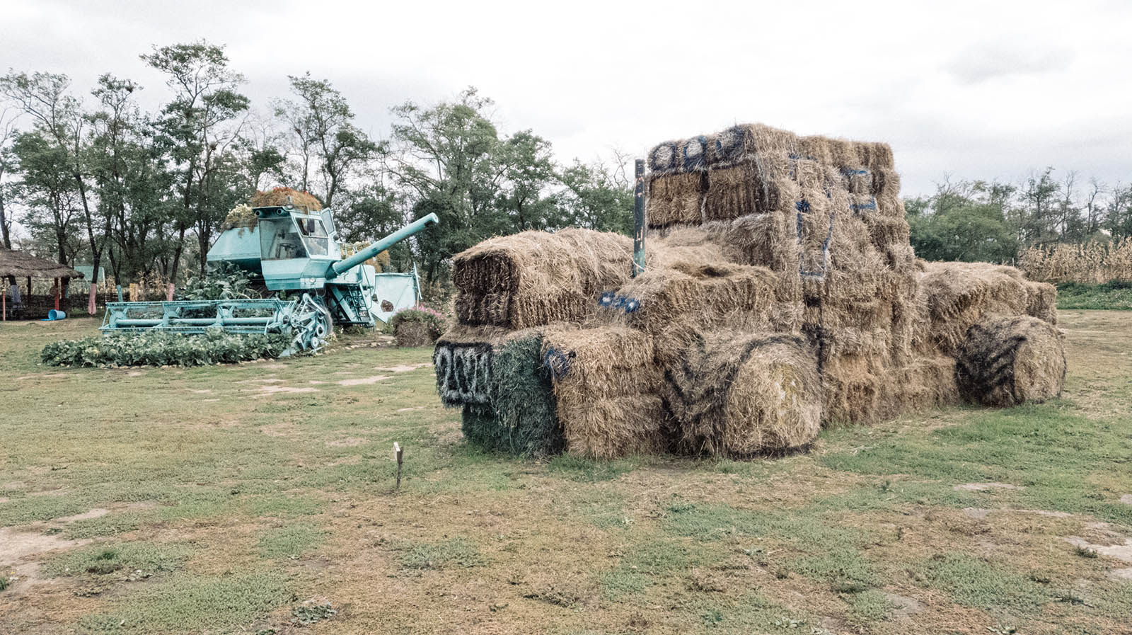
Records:
<instances>
[{"instance_id":1,"label":"low strip of green leafy plants beneath the teal combine's header","mask_svg":"<svg viewBox=\"0 0 1132 635\"><path fill-rule=\"evenodd\" d=\"M40 357L48 366L207 366L275 358L289 344L288 336L281 334L111 333L52 342Z\"/></svg>"}]
</instances>

